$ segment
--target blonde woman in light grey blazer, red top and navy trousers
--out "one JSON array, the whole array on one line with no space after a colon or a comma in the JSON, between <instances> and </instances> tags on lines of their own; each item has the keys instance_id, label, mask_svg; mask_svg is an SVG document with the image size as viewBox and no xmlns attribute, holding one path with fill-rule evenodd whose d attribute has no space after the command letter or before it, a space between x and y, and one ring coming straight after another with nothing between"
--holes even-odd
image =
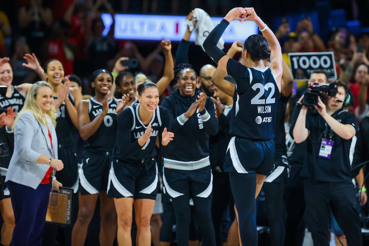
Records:
<instances>
[{"instance_id":1,"label":"blonde woman in light grey blazer, red top and navy trousers","mask_svg":"<svg viewBox=\"0 0 369 246\"><path fill-rule=\"evenodd\" d=\"M14 153L5 180L15 218L12 246L41 245L51 182L57 191L62 186L53 178L63 163L58 160L52 101L50 84L36 82L14 120Z\"/></svg>"}]
</instances>

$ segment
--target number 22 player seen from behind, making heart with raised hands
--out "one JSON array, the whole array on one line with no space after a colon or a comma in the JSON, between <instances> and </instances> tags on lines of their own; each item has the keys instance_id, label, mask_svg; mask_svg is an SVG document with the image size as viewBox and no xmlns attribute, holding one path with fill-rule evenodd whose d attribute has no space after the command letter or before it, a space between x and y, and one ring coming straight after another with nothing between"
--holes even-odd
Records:
<instances>
[{"instance_id":1,"label":"number 22 player seen from behind, making heart with raised hands","mask_svg":"<svg viewBox=\"0 0 369 246\"><path fill-rule=\"evenodd\" d=\"M251 35L245 40L242 57L246 67L217 48L218 40L233 20L255 21L264 36ZM203 46L218 66L236 80L230 122L230 133L235 136L228 145L224 170L230 174L240 245L256 246L255 198L273 169L275 114L282 77L281 48L254 8L240 7L233 8L221 20ZM269 57L270 67L266 67L263 61Z\"/></svg>"}]
</instances>

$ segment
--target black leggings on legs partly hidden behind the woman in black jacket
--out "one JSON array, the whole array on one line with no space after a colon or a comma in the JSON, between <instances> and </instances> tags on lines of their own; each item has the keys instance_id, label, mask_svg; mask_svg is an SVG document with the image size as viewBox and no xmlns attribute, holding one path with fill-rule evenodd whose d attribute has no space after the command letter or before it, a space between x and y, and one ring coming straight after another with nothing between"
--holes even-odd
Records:
<instances>
[{"instance_id":1,"label":"black leggings on legs partly hidden behind the woman in black jacket","mask_svg":"<svg viewBox=\"0 0 369 246\"><path fill-rule=\"evenodd\" d=\"M163 194L164 195L164 194ZM191 206L191 221L190 221L190 241L199 240L199 226L197 225L195 217L195 209ZM172 242L173 237L173 225L176 224L176 217L174 214L174 208L172 202L163 203L163 224L160 228L160 242Z\"/></svg>"}]
</instances>

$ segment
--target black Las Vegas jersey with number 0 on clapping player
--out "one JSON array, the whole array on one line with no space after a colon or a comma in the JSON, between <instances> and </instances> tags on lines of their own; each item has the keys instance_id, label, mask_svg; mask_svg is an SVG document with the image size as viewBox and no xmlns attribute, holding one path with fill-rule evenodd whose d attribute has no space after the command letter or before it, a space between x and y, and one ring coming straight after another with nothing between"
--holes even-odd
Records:
<instances>
[{"instance_id":1,"label":"black Las Vegas jersey with number 0 on clapping player","mask_svg":"<svg viewBox=\"0 0 369 246\"><path fill-rule=\"evenodd\" d=\"M103 104L96 101L93 97L87 99L89 102L90 121L103 112ZM97 131L87 139L85 148L98 151L113 151L115 140L117 139L117 105L118 100L110 97L108 102L108 113Z\"/></svg>"}]
</instances>

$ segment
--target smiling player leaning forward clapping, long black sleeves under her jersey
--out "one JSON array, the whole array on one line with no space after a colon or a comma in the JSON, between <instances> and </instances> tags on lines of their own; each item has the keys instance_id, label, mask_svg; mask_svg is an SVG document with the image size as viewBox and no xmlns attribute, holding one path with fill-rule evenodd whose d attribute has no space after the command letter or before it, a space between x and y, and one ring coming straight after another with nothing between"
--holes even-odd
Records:
<instances>
[{"instance_id":1,"label":"smiling player leaning forward clapping, long black sleeves under her jersey","mask_svg":"<svg viewBox=\"0 0 369 246\"><path fill-rule=\"evenodd\" d=\"M155 143L165 152L173 140L168 110L158 106L158 87L145 82L137 87L139 103L118 117L118 136L109 173L108 197L118 214L118 245L132 245L132 204L135 207L137 245L151 245L150 218L154 210L158 167ZM164 147L165 146L165 147Z\"/></svg>"}]
</instances>

